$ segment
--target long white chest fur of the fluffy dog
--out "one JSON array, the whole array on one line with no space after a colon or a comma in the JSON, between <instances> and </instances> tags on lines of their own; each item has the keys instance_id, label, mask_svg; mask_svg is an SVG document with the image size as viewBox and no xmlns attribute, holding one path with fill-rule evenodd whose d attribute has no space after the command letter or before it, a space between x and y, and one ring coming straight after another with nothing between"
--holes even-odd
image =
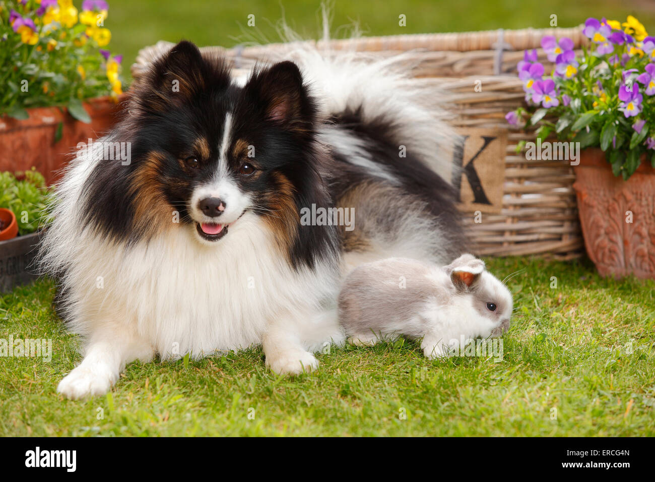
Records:
<instances>
[{"instance_id":1,"label":"long white chest fur of the fluffy dog","mask_svg":"<svg viewBox=\"0 0 655 482\"><path fill-rule=\"evenodd\" d=\"M254 214L242 216L215 247L198 243L189 229L179 226L128 250L85 241L84 262L69 273L79 289L71 299L85 300L73 306L84 311L73 317L84 320L79 331L111 320L116 329L136 330L163 358L196 357L259 344L276 313L315 310L333 298L329 273L292 273Z\"/></svg>"}]
</instances>

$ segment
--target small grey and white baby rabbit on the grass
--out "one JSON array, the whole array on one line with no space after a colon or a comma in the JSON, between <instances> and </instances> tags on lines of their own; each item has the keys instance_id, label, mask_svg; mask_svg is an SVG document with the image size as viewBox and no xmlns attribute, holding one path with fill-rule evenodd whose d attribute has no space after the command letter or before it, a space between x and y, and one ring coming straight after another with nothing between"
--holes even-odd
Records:
<instances>
[{"instance_id":1,"label":"small grey and white baby rabbit on the grass","mask_svg":"<svg viewBox=\"0 0 655 482\"><path fill-rule=\"evenodd\" d=\"M388 258L356 268L339 294L339 319L350 341L422 338L426 357L443 357L469 338L499 336L510 327L512 293L462 254L448 266Z\"/></svg>"}]
</instances>

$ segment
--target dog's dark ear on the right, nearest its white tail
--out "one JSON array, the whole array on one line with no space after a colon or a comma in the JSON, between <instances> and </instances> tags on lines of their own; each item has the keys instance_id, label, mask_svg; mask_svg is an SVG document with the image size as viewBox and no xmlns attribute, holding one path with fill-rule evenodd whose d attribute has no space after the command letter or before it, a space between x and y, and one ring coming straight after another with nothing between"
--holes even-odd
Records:
<instances>
[{"instance_id":1,"label":"dog's dark ear on the right, nearest its white tail","mask_svg":"<svg viewBox=\"0 0 655 482\"><path fill-rule=\"evenodd\" d=\"M244 95L265 121L293 131L303 131L312 122L314 106L303 85L303 75L288 60L255 71L244 87Z\"/></svg>"}]
</instances>

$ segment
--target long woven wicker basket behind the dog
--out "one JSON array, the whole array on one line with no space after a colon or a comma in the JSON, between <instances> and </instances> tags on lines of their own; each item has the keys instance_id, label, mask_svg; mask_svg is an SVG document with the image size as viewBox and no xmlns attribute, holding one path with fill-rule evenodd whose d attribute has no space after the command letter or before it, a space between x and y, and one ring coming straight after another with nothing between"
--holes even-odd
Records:
<instances>
[{"instance_id":1,"label":"long woven wicker basket behind the dog","mask_svg":"<svg viewBox=\"0 0 655 482\"><path fill-rule=\"evenodd\" d=\"M528 161L517 153L521 141L534 140L534 129L525 131L506 123L504 115L524 103L521 81L515 74L523 50L538 49L540 62L547 62L540 49L544 35L569 37L576 49L586 43L582 28L498 30L466 33L435 33L360 37L331 40L330 49L369 52L372 56L390 56L409 52L408 70L417 81L434 83L448 93L453 111L452 123L458 128L489 128L507 132L504 159L502 209L485 214L484 222L464 216L477 254L511 256L542 254L556 258L574 258L584 252L580 232L574 174L563 161ZM326 47L323 41L313 42ZM159 42L141 49L132 76L139 81L143 71L172 43ZM253 47L203 47L203 52L222 54L234 70L248 69L258 60L276 56L293 44L276 43ZM474 91L481 81L482 91Z\"/></svg>"}]
</instances>

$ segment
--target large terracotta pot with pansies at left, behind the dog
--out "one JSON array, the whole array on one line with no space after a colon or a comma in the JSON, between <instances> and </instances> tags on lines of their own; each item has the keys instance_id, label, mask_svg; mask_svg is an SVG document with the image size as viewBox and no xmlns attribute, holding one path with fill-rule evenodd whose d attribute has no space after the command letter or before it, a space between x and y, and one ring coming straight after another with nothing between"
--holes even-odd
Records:
<instances>
[{"instance_id":1,"label":"large terracotta pot with pansies at left, behind the dog","mask_svg":"<svg viewBox=\"0 0 655 482\"><path fill-rule=\"evenodd\" d=\"M24 121L0 117L0 171L27 171L34 166L48 184L58 180L61 173L57 171L71 159L77 143L102 136L120 110L109 97L90 99L83 105L91 117L89 124L56 107L28 109L29 119ZM61 138L56 140L60 124Z\"/></svg>"}]
</instances>

